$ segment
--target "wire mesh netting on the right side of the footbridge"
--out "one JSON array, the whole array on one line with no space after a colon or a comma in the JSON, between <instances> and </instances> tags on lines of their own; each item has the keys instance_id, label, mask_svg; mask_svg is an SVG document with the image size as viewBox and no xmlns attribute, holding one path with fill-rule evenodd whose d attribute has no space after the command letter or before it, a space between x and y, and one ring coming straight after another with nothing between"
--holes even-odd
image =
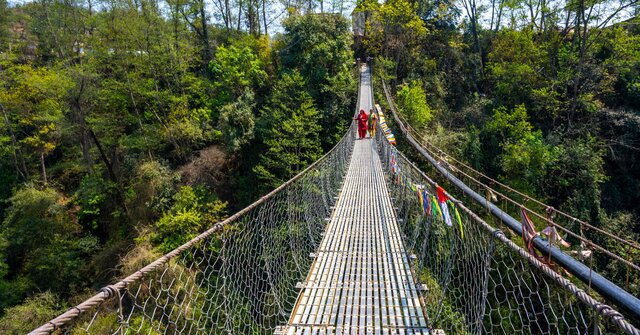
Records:
<instances>
[{"instance_id":1,"label":"wire mesh netting on the right side of the footbridge","mask_svg":"<svg viewBox=\"0 0 640 335\"><path fill-rule=\"evenodd\" d=\"M439 215L425 214L424 196L417 190L435 196L435 183L384 136L378 134L376 142L386 162L406 249L415 255L413 271L425 287L422 299L430 328L447 334L638 334L632 325L620 322L620 314L534 259L457 200L448 205L452 226ZM596 306L607 311L598 313Z\"/></svg>"}]
</instances>

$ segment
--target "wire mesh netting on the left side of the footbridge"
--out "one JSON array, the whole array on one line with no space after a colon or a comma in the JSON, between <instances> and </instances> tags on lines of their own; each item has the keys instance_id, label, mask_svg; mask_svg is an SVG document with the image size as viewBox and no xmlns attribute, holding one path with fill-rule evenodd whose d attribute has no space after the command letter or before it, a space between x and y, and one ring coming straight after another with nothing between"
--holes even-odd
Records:
<instances>
[{"instance_id":1,"label":"wire mesh netting on the left side of the footbridge","mask_svg":"<svg viewBox=\"0 0 640 335\"><path fill-rule=\"evenodd\" d=\"M254 205L34 333L272 334L286 324L296 282L309 271L353 140L352 127Z\"/></svg>"}]
</instances>

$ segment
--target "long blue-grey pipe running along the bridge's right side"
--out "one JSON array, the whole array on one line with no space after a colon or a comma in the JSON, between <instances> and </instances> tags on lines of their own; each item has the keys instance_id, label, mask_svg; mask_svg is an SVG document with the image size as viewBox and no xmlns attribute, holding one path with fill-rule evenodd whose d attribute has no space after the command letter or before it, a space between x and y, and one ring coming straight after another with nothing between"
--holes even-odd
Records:
<instances>
[{"instance_id":1,"label":"long blue-grey pipe running along the bridge's right side","mask_svg":"<svg viewBox=\"0 0 640 335\"><path fill-rule=\"evenodd\" d=\"M407 137L411 145L413 145L418 150L418 152L423 155L428 155L428 152L423 147L419 146L419 144L415 140L413 140L403 122L398 119L398 113L395 111L395 107L393 106L393 101L388 92L388 89L386 88L384 82L382 84L391 111L394 115L394 118L396 119L396 122L401 128L401 131ZM496 205L494 205L493 202L490 202L485 197L480 196L479 194L469 189L466 185L462 184L462 181L453 177L453 175L443 166L441 166L438 161L430 156L425 156L425 158L427 158L430 164L434 164L434 170L436 170L438 173L442 173L446 178L445 180L447 180L448 182L450 181L452 183L451 185L455 185L456 187L460 188L464 194L468 194L473 203L479 205L480 207L485 207L491 215L504 223L505 226L511 228L516 233L521 233L522 226L518 220L513 219L507 213L500 210ZM518 208L522 208L522 205L518 204L518 206ZM610 299L616 305L624 309L625 312L628 313L628 315L631 315L632 317L636 317L638 315L638 299L633 297L633 295L624 291L620 287L616 286L606 278L602 277L597 272L593 271L592 264L589 264L589 266L582 265L582 263L579 263L575 259L560 251L551 243L542 240L539 237L534 238L534 245L538 250L549 255L549 262L551 262L551 260L553 259L555 263L576 275L578 279L582 280L585 283L587 290L595 288L599 293L604 294L605 298Z\"/></svg>"}]
</instances>

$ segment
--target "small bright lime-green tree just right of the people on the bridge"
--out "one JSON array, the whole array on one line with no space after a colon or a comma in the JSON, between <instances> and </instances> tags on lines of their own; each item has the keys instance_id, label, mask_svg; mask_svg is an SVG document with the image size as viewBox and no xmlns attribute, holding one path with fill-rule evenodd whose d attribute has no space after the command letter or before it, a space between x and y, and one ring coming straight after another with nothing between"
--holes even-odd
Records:
<instances>
[{"instance_id":1,"label":"small bright lime-green tree just right of the people on the bridge","mask_svg":"<svg viewBox=\"0 0 640 335\"><path fill-rule=\"evenodd\" d=\"M433 117L420 81L402 85L398 90L398 108L416 129L426 127Z\"/></svg>"}]
</instances>

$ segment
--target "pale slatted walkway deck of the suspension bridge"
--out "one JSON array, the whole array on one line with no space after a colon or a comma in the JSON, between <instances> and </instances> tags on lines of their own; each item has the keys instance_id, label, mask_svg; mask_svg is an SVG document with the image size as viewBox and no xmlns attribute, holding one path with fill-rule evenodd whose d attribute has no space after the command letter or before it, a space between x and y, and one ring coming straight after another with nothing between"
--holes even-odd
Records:
<instances>
[{"instance_id":1,"label":"pale slatted walkway deck of the suspension bridge","mask_svg":"<svg viewBox=\"0 0 640 335\"><path fill-rule=\"evenodd\" d=\"M368 74L361 79L361 97L368 96L370 106L369 87L364 87ZM302 284L289 323L277 334L429 333L371 139L355 143L336 207Z\"/></svg>"}]
</instances>

